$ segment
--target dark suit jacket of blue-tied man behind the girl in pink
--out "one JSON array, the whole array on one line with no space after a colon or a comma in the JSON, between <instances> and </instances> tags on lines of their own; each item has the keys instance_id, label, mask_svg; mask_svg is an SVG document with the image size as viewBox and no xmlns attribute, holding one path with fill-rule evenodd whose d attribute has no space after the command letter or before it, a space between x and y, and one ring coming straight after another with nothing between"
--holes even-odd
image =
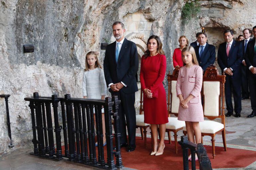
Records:
<instances>
[{"instance_id":1,"label":"dark suit jacket of blue-tied man behind the girl in pink","mask_svg":"<svg viewBox=\"0 0 256 170\"><path fill-rule=\"evenodd\" d=\"M199 47L200 45L194 48L195 54L196 54L196 58L199 63L199 66L201 66L202 69L205 71L210 64L214 64L215 62L215 57L216 57L215 46L206 43L201 57L199 56Z\"/></svg>"}]
</instances>

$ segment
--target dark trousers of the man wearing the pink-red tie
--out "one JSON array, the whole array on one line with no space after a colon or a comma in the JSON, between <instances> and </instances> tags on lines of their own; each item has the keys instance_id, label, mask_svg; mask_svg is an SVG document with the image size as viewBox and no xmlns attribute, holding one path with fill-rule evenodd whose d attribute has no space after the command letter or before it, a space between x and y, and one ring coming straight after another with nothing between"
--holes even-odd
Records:
<instances>
[{"instance_id":1,"label":"dark trousers of the man wearing the pink-red tie","mask_svg":"<svg viewBox=\"0 0 256 170\"><path fill-rule=\"evenodd\" d=\"M235 108L233 109L232 104L232 92L234 97L234 104ZM225 82L225 98L226 98L226 106L227 111L233 113L240 113L242 110L242 102L241 102L241 79L232 78L230 75L226 75L226 82Z\"/></svg>"}]
</instances>

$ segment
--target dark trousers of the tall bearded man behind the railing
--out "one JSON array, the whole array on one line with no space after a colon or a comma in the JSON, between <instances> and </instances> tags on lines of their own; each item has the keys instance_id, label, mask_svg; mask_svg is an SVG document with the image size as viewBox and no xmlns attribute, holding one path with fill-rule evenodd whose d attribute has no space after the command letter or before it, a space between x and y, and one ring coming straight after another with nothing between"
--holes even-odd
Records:
<instances>
[{"instance_id":1,"label":"dark trousers of the tall bearded man behind the railing","mask_svg":"<svg viewBox=\"0 0 256 170\"><path fill-rule=\"evenodd\" d=\"M126 94L122 90L112 92L111 95L117 95L121 100L118 108L119 128L121 133L120 143L127 142L126 124L128 130L129 145L135 145L136 135L136 111L134 107L135 93ZM126 123L125 123L126 120Z\"/></svg>"}]
</instances>

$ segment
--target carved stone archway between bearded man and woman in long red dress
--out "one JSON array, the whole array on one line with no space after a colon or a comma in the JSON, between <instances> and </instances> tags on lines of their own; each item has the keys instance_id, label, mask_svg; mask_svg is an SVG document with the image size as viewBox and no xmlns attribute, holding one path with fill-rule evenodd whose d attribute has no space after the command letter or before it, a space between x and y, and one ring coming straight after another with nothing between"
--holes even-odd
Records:
<instances>
[{"instance_id":1,"label":"carved stone archway between bearded man and woman in long red dress","mask_svg":"<svg viewBox=\"0 0 256 170\"><path fill-rule=\"evenodd\" d=\"M140 81L140 65L141 65L141 57L144 55L147 50L147 39L143 34L140 33L130 33L125 36L125 38L129 41L132 41L137 46L138 56L139 56L139 69L137 72L138 81Z\"/></svg>"}]
</instances>

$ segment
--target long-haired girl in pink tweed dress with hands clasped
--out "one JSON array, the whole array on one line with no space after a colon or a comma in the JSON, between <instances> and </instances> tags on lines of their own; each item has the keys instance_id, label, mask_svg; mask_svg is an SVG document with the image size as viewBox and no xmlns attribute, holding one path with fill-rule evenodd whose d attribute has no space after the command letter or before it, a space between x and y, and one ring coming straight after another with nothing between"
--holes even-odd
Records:
<instances>
[{"instance_id":1,"label":"long-haired girl in pink tweed dress with hands clasped","mask_svg":"<svg viewBox=\"0 0 256 170\"><path fill-rule=\"evenodd\" d=\"M178 120L185 121L189 141L200 143L201 131L199 122L203 121L200 92L203 72L198 65L192 46L183 48L182 59L186 65L180 68L176 85L177 96L180 99Z\"/></svg>"}]
</instances>

